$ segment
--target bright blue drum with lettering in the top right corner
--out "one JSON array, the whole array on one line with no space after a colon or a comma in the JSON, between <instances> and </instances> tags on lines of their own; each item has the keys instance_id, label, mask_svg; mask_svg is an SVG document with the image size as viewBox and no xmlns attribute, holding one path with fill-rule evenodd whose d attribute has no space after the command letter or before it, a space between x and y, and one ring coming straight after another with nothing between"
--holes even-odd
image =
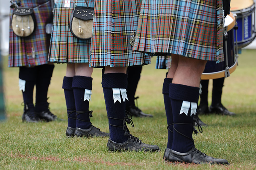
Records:
<instances>
[{"instance_id":1,"label":"bright blue drum with lettering in the top right corner","mask_svg":"<svg viewBox=\"0 0 256 170\"><path fill-rule=\"evenodd\" d=\"M255 38L255 3L253 0L232 0L230 11L237 15L238 48L249 45Z\"/></svg>"}]
</instances>

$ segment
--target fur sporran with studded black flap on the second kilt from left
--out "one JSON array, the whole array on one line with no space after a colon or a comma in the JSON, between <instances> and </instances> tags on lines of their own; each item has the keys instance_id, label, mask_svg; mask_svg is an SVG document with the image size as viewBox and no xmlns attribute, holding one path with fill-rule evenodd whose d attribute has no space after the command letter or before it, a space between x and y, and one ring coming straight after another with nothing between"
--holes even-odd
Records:
<instances>
[{"instance_id":1,"label":"fur sporran with studded black flap on the second kilt from left","mask_svg":"<svg viewBox=\"0 0 256 170\"><path fill-rule=\"evenodd\" d=\"M74 5L76 6L76 3ZM92 37L93 11L88 4L87 7L75 7L69 23L70 31L75 37L81 40L88 40Z\"/></svg>"}]
</instances>

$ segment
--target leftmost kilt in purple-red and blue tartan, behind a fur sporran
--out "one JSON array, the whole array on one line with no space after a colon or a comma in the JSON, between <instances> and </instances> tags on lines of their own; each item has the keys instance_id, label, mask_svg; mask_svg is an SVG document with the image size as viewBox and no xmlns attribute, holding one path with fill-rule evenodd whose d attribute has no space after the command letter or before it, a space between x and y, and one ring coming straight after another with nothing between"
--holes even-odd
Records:
<instances>
[{"instance_id":1,"label":"leftmost kilt in purple-red and blue tartan, behind a fur sporran","mask_svg":"<svg viewBox=\"0 0 256 170\"><path fill-rule=\"evenodd\" d=\"M37 26L30 36L18 37L12 30L13 9L10 9L8 67L47 64L50 35L46 34L45 25L52 17L51 3L49 0L23 0L19 2L20 6L34 8ZM35 58L32 57L33 50L35 51Z\"/></svg>"}]
</instances>

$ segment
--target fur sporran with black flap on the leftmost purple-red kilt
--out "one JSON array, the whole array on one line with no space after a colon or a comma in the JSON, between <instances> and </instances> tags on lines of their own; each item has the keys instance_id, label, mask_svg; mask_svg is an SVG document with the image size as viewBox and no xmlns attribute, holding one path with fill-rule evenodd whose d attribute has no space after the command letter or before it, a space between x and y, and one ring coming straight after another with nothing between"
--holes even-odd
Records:
<instances>
[{"instance_id":1,"label":"fur sporran with black flap on the leftmost purple-red kilt","mask_svg":"<svg viewBox=\"0 0 256 170\"><path fill-rule=\"evenodd\" d=\"M13 32L19 37L28 37L36 29L36 19L33 8L18 7L13 10Z\"/></svg>"}]
</instances>

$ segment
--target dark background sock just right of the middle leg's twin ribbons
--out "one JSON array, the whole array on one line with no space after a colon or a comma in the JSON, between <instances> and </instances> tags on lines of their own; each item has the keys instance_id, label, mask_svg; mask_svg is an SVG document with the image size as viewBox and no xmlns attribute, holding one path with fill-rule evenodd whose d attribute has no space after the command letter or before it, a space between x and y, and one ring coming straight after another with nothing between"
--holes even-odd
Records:
<instances>
[{"instance_id":1,"label":"dark background sock just right of the middle leg's twin ribbons","mask_svg":"<svg viewBox=\"0 0 256 170\"><path fill-rule=\"evenodd\" d=\"M128 108L130 106L134 106L134 96L138 86L138 82L141 77L142 66L139 67L128 67L128 78L127 78L127 98L129 100L126 101L125 107Z\"/></svg>"}]
</instances>

